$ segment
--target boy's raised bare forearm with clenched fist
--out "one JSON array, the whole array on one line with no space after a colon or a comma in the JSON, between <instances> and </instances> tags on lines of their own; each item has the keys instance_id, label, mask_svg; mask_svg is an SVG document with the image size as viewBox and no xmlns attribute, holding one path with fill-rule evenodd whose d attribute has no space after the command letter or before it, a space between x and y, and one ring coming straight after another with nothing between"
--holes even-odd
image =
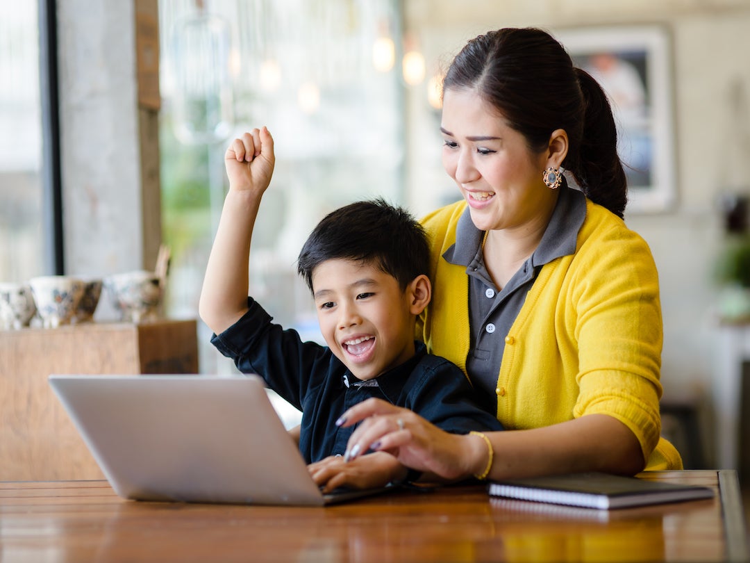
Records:
<instances>
[{"instance_id":1,"label":"boy's raised bare forearm with clenched fist","mask_svg":"<svg viewBox=\"0 0 750 563\"><path fill-rule=\"evenodd\" d=\"M268 129L233 140L224 154L226 194L208 257L198 312L214 333L231 327L248 310L250 242L260 200L274 170L274 141Z\"/></svg>"}]
</instances>

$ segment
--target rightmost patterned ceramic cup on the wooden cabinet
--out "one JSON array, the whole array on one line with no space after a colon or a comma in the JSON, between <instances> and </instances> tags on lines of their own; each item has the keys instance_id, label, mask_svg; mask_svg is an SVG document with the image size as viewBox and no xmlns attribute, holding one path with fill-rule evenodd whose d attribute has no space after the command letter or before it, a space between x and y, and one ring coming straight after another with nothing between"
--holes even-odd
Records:
<instances>
[{"instance_id":1,"label":"rightmost patterned ceramic cup on the wooden cabinet","mask_svg":"<svg viewBox=\"0 0 750 563\"><path fill-rule=\"evenodd\" d=\"M148 270L134 270L104 278L104 287L124 322L153 321L161 303L161 279Z\"/></svg>"}]
</instances>

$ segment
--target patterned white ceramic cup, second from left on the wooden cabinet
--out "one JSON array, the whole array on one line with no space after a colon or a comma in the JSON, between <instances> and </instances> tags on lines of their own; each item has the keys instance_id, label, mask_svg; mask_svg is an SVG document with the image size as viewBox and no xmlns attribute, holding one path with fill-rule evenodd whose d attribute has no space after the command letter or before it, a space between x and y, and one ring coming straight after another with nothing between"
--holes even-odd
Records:
<instances>
[{"instance_id":1,"label":"patterned white ceramic cup, second from left on the wooden cabinet","mask_svg":"<svg viewBox=\"0 0 750 563\"><path fill-rule=\"evenodd\" d=\"M44 328L71 324L83 296L83 280L72 275L40 275L28 280Z\"/></svg>"}]
</instances>

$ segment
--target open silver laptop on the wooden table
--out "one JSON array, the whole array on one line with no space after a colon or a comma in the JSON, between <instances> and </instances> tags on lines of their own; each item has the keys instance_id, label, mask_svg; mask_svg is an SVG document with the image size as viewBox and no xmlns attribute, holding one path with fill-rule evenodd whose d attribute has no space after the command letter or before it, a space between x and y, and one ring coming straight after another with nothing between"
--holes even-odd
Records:
<instances>
[{"instance_id":1,"label":"open silver laptop on the wooden table","mask_svg":"<svg viewBox=\"0 0 750 563\"><path fill-rule=\"evenodd\" d=\"M50 375L115 492L142 501L323 506L257 375Z\"/></svg>"}]
</instances>

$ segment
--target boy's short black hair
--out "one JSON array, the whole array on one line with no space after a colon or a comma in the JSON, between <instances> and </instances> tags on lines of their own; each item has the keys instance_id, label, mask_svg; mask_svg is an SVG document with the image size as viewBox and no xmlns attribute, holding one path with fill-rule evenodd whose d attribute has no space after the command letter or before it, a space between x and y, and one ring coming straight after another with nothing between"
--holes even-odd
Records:
<instances>
[{"instance_id":1,"label":"boy's short black hair","mask_svg":"<svg viewBox=\"0 0 750 563\"><path fill-rule=\"evenodd\" d=\"M310 233L297 260L310 291L313 270L332 259L374 263L404 290L418 275L428 275L430 247L410 212L378 198L330 212Z\"/></svg>"}]
</instances>

